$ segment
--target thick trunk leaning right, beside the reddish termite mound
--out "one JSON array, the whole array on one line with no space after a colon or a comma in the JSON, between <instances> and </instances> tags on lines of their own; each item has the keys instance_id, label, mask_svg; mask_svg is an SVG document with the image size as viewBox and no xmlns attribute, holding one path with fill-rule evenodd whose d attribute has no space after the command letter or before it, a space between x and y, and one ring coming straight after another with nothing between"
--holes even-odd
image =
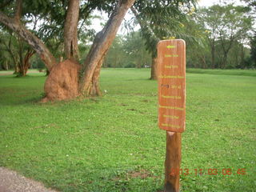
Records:
<instances>
[{"instance_id":1,"label":"thick trunk leaning right, beside the reddish termite mound","mask_svg":"<svg viewBox=\"0 0 256 192\"><path fill-rule=\"evenodd\" d=\"M83 71L84 74L80 78L79 90L84 96L90 94L100 94L95 87L98 87L98 70L97 67L102 66L102 61L105 58L106 52L110 49L110 45L118 32L122 19L125 17L127 10L134 4L135 0L120 0L111 14L109 21L101 32L99 32L94 43L91 46L90 52L86 57ZM94 78L96 77L96 78ZM97 79L97 80L96 80ZM96 82L94 81L96 80Z\"/></svg>"}]
</instances>

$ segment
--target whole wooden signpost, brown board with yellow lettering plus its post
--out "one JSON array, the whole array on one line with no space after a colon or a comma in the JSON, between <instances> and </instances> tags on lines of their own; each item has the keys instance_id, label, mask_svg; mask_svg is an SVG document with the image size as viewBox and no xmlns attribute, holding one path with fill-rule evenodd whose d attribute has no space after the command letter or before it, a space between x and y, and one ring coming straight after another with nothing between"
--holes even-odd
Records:
<instances>
[{"instance_id":1,"label":"whole wooden signpost, brown board with yellow lettering plus its post","mask_svg":"<svg viewBox=\"0 0 256 192\"><path fill-rule=\"evenodd\" d=\"M186 46L182 39L158 43L158 126L166 130L165 192L179 191L182 132L186 118Z\"/></svg>"}]
</instances>

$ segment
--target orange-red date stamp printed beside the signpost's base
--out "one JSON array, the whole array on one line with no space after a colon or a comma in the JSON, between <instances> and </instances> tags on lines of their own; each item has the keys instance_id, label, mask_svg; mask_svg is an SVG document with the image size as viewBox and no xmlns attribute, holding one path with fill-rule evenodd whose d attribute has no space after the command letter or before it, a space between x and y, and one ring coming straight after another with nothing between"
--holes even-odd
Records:
<instances>
[{"instance_id":1,"label":"orange-red date stamp printed beside the signpost's base","mask_svg":"<svg viewBox=\"0 0 256 192\"><path fill-rule=\"evenodd\" d=\"M239 168L239 169L231 169L231 168L209 168L209 169L171 169L170 175L177 176L177 175L191 175L194 174L195 176L202 176L202 175L245 175L246 169Z\"/></svg>"}]
</instances>

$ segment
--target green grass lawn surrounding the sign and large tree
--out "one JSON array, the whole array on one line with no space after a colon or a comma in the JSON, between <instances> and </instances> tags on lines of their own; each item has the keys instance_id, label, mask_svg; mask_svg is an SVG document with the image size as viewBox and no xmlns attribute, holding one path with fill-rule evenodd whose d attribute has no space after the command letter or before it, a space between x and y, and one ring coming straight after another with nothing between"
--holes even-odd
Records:
<instances>
[{"instance_id":1,"label":"green grass lawn surrounding the sign and large tree","mask_svg":"<svg viewBox=\"0 0 256 192\"><path fill-rule=\"evenodd\" d=\"M186 75L182 192L256 189L256 71L228 71ZM162 190L166 134L149 75L103 69L102 98L46 104L43 74L0 76L0 166L61 191Z\"/></svg>"}]
</instances>

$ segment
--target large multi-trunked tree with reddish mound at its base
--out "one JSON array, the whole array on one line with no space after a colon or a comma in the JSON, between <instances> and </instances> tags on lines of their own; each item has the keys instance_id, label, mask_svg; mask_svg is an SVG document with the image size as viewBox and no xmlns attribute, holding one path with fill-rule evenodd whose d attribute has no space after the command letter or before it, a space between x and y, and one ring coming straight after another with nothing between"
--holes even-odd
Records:
<instances>
[{"instance_id":1,"label":"large multi-trunked tree with reddish mound at its base","mask_svg":"<svg viewBox=\"0 0 256 192\"><path fill-rule=\"evenodd\" d=\"M0 11L0 22L23 38L38 53L48 70L50 70L50 75L45 85L45 101L74 98L79 94L85 96L101 94L98 87L98 77L102 62L114 40L118 27L121 25L122 18L124 18L130 6L133 5L134 0L119 0L118 2L90 1L83 3L82 6L79 6L78 0L70 0L69 2L50 0L33 2L24 0L23 2L22 0L16 0L14 13L11 13L11 10L13 10L11 6L14 6L11 3L7 8L5 5L6 11ZM61 11L60 5L62 5L64 11ZM22 9L23 7L24 9ZM100 9L105 7L108 10L113 10L112 7L115 8L106 26L95 36L93 45L86 56L86 60L82 67L80 67L78 65L79 54L77 42L79 15L81 15L81 13L84 16L86 14L88 15L88 13L90 14L90 11L94 10L96 7ZM47 10L51 10L50 12L48 11L50 14L47 14ZM58 17L58 15L56 15L57 13L60 13L61 17ZM8 14L9 16L7 16ZM54 58L54 55L50 52L42 39L39 39L30 30L26 29L21 18L29 14L34 14L42 18L46 15L50 15L49 20L51 21L52 19L53 22L57 23L63 20L63 15L65 16L64 25L62 24L61 26L64 26L63 36L66 58L70 60L58 64L56 58ZM79 78L78 71L80 68L82 75ZM57 77L58 74L62 75Z\"/></svg>"}]
</instances>

